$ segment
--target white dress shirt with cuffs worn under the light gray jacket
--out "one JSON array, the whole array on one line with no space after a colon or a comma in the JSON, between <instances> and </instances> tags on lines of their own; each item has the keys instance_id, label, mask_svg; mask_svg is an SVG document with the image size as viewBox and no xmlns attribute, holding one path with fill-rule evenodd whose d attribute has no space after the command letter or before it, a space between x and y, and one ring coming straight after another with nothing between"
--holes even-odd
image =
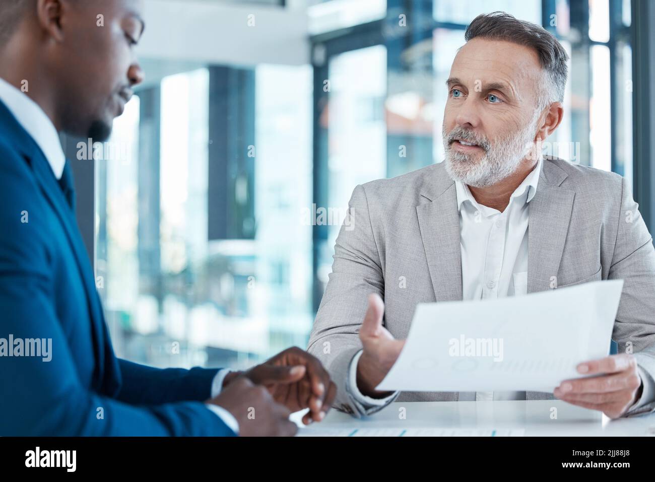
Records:
<instances>
[{"instance_id":1,"label":"white dress shirt with cuffs worn under the light gray jacket","mask_svg":"<svg viewBox=\"0 0 655 482\"><path fill-rule=\"evenodd\" d=\"M493 299L527 294L529 202L536 193L543 159L523 179L510 196L503 212L479 204L468 186L455 181L460 223L462 255L462 299ZM381 399L364 396L358 390L357 362L362 352L350 362L348 387L365 413L391 403L399 392ZM643 394L652 392L641 368ZM652 396L651 396L652 398ZM646 401L647 396L640 400ZM460 392L459 401L525 400L525 392ZM639 405L639 401L631 409Z\"/></svg>"}]
</instances>

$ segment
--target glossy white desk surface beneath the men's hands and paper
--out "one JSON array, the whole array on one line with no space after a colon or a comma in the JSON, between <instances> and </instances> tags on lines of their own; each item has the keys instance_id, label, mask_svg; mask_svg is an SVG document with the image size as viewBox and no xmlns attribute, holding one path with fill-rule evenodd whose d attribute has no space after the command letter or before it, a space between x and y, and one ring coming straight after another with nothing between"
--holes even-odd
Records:
<instances>
[{"instance_id":1,"label":"glossy white desk surface beneath the men's hands and paper","mask_svg":"<svg viewBox=\"0 0 655 482\"><path fill-rule=\"evenodd\" d=\"M400 418L402 407L404 420ZM556 419L551 418L553 407L557 409ZM296 417L293 414L294 420ZM601 412L561 400L395 402L360 419L331 409L322 422L301 428L298 435L343 435L356 429L362 434L362 429L381 428L400 429L398 432L415 428L472 429L466 435L475 434L475 430L502 434L514 429L524 436L655 436L655 413L611 420Z\"/></svg>"}]
</instances>

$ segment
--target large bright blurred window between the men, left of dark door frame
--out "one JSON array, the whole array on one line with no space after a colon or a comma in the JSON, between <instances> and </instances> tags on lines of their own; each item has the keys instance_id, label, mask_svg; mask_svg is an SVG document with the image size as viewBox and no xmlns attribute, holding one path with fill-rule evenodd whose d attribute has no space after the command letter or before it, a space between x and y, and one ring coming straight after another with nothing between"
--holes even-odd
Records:
<instances>
[{"instance_id":1,"label":"large bright blurred window between the men, left of dark door frame","mask_svg":"<svg viewBox=\"0 0 655 482\"><path fill-rule=\"evenodd\" d=\"M99 291L119 356L250 365L313 320L311 69L182 70L115 122L133 153L96 173Z\"/></svg>"}]
</instances>

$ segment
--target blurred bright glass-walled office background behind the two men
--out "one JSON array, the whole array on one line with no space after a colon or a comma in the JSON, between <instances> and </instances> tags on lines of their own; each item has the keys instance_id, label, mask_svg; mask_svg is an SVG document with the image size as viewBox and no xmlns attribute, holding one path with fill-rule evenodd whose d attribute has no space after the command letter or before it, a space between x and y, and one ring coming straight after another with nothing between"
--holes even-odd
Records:
<instances>
[{"instance_id":1,"label":"blurred bright glass-walled office background behind the two men","mask_svg":"<svg viewBox=\"0 0 655 482\"><path fill-rule=\"evenodd\" d=\"M572 60L555 154L631 180L630 7L147 0L147 81L111 139L125 154L95 170L96 276L117 354L246 367L304 348L339 231L305 213L441 162L444 82L482 12L557 35Z\"/></svg>"}]
</instances>

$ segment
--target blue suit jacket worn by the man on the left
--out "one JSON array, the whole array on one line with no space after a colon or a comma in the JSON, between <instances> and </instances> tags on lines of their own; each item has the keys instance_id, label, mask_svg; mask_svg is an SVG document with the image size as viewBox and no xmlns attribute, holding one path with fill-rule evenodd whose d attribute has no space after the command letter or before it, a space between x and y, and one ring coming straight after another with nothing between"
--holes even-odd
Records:
<instances>
[{"instance_id":1,"label":"blue suit jacket worn by the man on the left","mask_svg":"<svg viewBox=\"0 0 655 482\"><path fill-rule=\"evenodd\" d=\"M0 436L234 435L202 403L216 369L116 358L74 213L2 102L0 227L0 339L52 339L50 362L0 356Z\"/></svg>"}]
</instances>

